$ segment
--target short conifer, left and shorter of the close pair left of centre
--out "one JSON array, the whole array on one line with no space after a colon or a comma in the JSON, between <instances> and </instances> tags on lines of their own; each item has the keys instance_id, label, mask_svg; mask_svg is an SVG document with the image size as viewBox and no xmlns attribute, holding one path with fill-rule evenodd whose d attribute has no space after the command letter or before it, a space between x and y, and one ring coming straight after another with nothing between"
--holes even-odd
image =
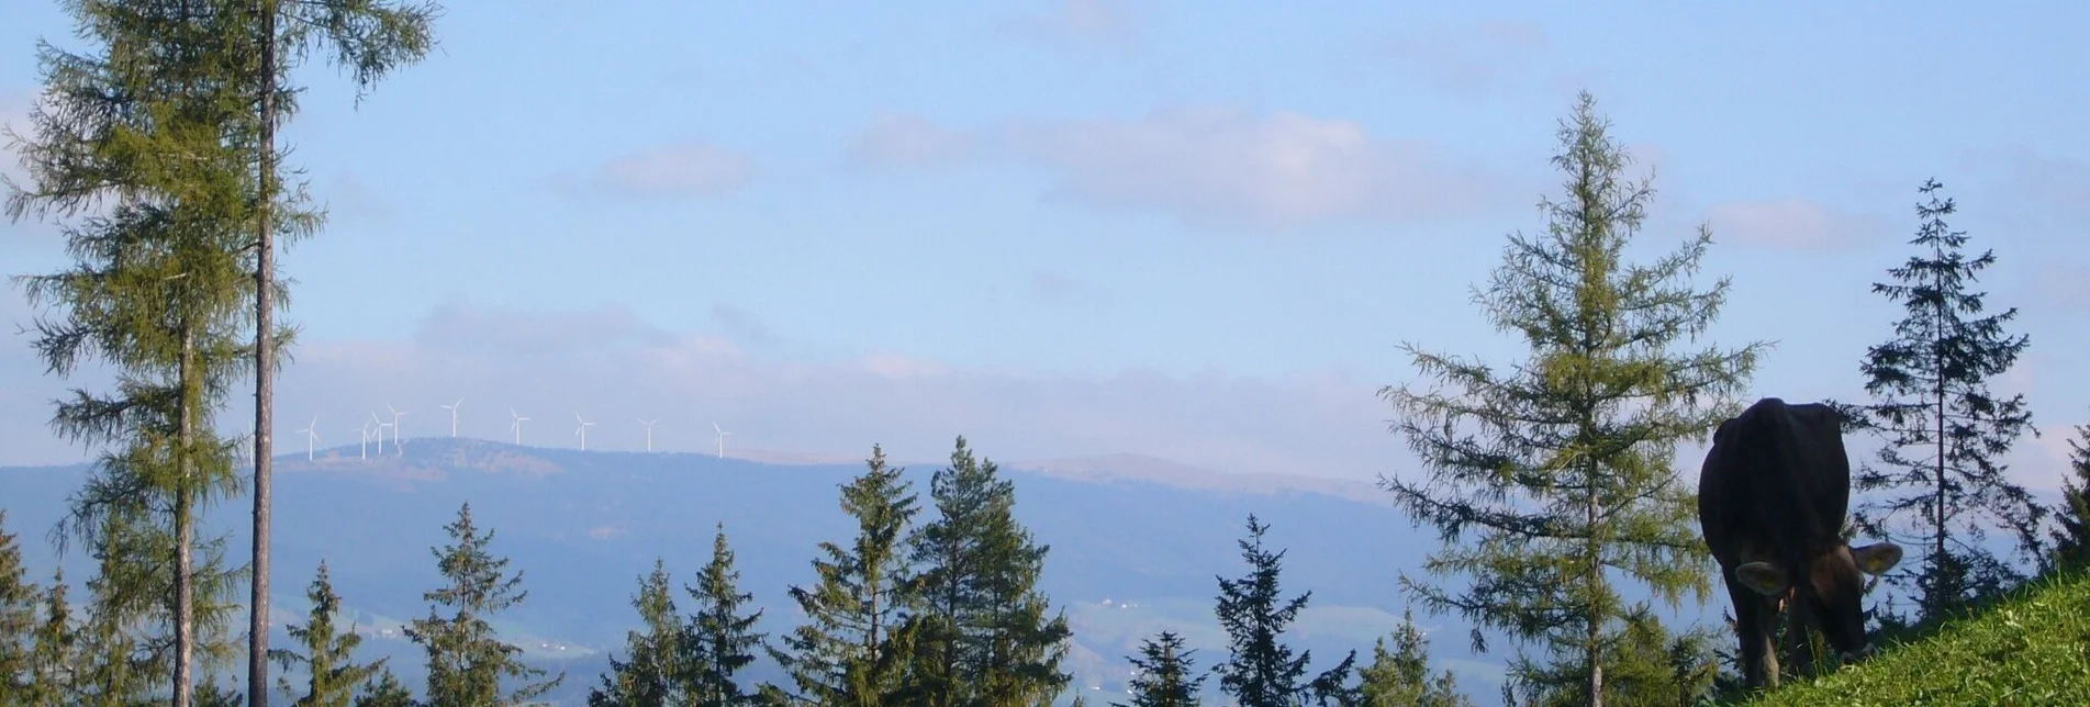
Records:
<instances>
[{"instance_id":1,"label":"short conifer, left and shorter of the close pair left of centre","mask_svg":"<svg viewBox=\"0 0 2090 707\"><path fill-rule=\"evenodd\" d=\"M587 692L589 707L681 705L694 697L677 684L677 676L688 676L690 667L681 653L686 636L671 590L667 565L654 558L654 571L640 577L640 594L631 598L646 632L625 632L625 659L610 655L610 674Z\"/></svg>"}]
</instances>

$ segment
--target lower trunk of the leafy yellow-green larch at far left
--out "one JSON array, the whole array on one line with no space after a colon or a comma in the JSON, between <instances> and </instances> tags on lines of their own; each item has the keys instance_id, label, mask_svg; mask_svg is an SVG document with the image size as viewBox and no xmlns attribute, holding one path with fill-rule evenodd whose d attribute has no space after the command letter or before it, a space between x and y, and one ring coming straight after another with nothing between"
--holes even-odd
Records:
<instances>
[{"instance_id":1,"label":"lower trunk of the leafy yellow-green larch at far left","mask_svg":"<svg viewBox=\"0 0 2090 707\"><path fill-rule=\"evenodd\" d=\"M196 374L196 333L188 322L182 322L182 364L176 372L180 429L173 448L176 469L180 469L180 481L173 483L173 707L188 707L190 686L196 678L196 558L190 550L196 521L188 502L196 483L196 404L192 397L201 389L194 381Z\"/></svg>"}]
</instances>

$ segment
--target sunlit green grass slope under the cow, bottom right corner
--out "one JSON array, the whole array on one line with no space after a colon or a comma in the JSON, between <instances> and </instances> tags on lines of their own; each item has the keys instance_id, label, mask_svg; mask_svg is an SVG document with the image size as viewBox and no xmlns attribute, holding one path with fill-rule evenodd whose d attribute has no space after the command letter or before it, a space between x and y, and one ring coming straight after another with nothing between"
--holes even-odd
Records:
<instances>
[{"instance_id":1,"label":"sunlit green grass slope under the cow, bottom right corner","mask_svg":"<svg viewBox=\"0 0 2090 707\"><path fill-rule=\"evenodd\" d=\"M1749 705L2090 705L2090 573L2029 581Z\"/></svg>"}]
</instances>

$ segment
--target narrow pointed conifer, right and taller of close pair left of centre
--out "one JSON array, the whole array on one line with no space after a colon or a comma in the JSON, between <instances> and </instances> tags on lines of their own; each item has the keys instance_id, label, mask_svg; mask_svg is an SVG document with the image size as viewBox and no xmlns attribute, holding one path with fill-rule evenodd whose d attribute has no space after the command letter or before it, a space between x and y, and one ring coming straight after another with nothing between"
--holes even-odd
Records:
<instances>
[{"instance_id":1,"label":"narrow pointed conifer, right and taller of close pair left of centre","mask_svg":"<svg viewBox=\"0 0 2090 707\"><path fill-rule=\"evenodd\" d=\"M725 542L725 523L711 540L711 563L686 588L696 600L696 613L683 630L683 684L698 707L752 707L757 694L740 688L738 674L754 663L754 651L767 646L767 634L754 632L763 611L748 607L754 594L740 592L740 571L734 569L734 548Z\"/></svg>"}]
</instances>

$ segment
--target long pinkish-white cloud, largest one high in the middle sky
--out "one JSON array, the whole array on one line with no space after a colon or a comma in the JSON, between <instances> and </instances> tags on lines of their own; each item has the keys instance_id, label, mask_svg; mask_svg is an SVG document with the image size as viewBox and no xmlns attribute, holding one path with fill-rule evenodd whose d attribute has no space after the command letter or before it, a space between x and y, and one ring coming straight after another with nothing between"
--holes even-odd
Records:
<instances>
[{"instance_id":1,"label":"long pinkish-white cloud, largest one high in the middle sky","mask_svg":"<svg viewBox=\"0 0 2090 707\"><path fill-rule=\"evenodd\" d=\"M1060 174L1053 199L1208 224L1400 222L1519 203L1509 180L1423 142L1300 113L1175 107L1137 119L1022 121L1007 142Z\"/></svg>"}]
</instances>

